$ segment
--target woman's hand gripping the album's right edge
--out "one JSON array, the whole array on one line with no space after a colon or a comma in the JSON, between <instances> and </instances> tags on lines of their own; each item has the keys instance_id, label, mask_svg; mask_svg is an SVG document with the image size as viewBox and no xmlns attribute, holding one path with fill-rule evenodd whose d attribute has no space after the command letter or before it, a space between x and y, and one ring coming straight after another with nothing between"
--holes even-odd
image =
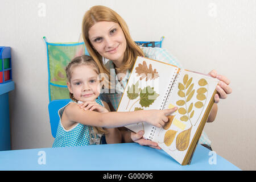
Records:
<instances>
[{"instance_id":1,"label":"woman's hand gripping the album's right edge","mask_svg":"<svg viewBox=\"0 0 256 182\"><path fill-rule=\"evenodd\" d=\"M232 93L232 88L229 86L229 79L223 75L217 75L217 72L214 69L210 71L209 75L220 80L216 86L217 94L214 96L214 102L217 104L220 101L220 98L225 99L228 97L228 94Z\"/></svg>"}]
</instances>

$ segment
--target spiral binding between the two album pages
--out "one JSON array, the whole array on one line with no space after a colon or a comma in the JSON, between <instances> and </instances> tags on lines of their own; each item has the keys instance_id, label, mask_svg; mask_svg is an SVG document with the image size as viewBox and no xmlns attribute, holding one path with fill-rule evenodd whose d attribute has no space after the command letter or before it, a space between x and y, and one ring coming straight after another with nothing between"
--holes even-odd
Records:
<instances>
[{"instance_id":1,"label":"spiral binding between the two album pages","mask_svg":"<svg viewBox=\"0 0 256 182\"><path fill-rule=\"evenodd\" d=\"M177 71L177 69L175 69L175 71ZM180 70L180 72L181 72L181 70ZM177 79L178 79L179 76L180 76L180 72L179 72L178 74L172 75L172 80L171 80L170 84L168 85L166 95L164 96L163 101L162 101L162 104L161 104L161 106L160 106L160 110L163 110L163 108L166 106L166 103L167 103L167 101L168 101L168 99L169 99L170 93L171 93L172 90L174 89L174 85L175 85ZM176 76L176 77L175 77L175 76ZM151 133L150 133L150 136L149 136L148 138L152 140L152 139L154 138L154 134L155 134L156 127L155 127L155 126L152 126L152 127L150 128L150 130L151 130Z\"/></svg>"}]
</instances>

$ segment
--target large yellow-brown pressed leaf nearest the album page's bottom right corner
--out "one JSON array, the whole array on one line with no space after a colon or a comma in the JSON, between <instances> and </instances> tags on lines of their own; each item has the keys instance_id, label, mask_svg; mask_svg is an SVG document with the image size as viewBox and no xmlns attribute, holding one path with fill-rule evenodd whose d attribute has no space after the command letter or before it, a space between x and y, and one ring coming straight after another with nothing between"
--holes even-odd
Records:
<instances>
[{"instance_id":1,"label":"large yellow-brown pressed leaf nearest the album page's bottom right corner","mask_svg":"<svg viewBox=\"0 0 256 182\"><path fill-rule=\"evenodd\" d=\"M190 140L190 133L191 133L192 127L190 129L182 131L177 135L176 138L176 148L179 151L184 151L188 148L189 140Z\"/></svg>"}]
</instances>

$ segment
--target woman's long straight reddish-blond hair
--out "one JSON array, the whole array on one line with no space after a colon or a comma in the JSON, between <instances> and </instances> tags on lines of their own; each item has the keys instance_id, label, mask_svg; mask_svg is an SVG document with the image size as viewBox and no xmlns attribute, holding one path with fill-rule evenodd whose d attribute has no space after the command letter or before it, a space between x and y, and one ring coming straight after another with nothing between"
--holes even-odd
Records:
<instances>
[{"instance_id":1,"label":"woman's long straight reddish-blond hair","mask_svg":"<svg viewBox=\"0 0 256 182\"><path fill-rule=\"evenodd\" d=\"M104 67L102 63L102 56L97 52L94 51L92 48L92 44L89 40L89 29L95 23L107 21L107 22L115 22L118 23L119 26L122 28L123 34L125 35L125 39L127 42L125 55L123 56L124 64L122 68L117 69L117 71L124 71L126 69L132 69L135 59L137 56L144 56L143 51L137 44L131 39L127 24L125 20L121 18L120 15L115 13L112 9L109 9L106 6L93 6L91 7L84 15L82 20L82 38L84 39L85 46L89 52L89 54L93 57L94 60L97 60L101 63L102 67L104 68L104 72L109 75L108 69ZM110 78L110 76L109 76Z\"/></svg>"}]
</instances>

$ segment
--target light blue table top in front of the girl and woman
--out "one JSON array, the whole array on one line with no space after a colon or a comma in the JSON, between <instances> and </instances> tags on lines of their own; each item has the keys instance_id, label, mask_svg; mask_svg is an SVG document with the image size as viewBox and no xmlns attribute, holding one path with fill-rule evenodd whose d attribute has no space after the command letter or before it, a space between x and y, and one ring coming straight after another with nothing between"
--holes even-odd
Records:
<instances>
[{"instance_id":1,"label":"light blue table top in front of the girl and woman","mask_svg":"<svg viewBox=\"0 0 256 182\"><path fill-rule=\"evenodd\" d=\"M10 150L0 151L0 170L240 170L219 155L209 164L209 152L198 145L191 164L181 166L163 150L137 143Z\"/></svg>"}]
</instances>

